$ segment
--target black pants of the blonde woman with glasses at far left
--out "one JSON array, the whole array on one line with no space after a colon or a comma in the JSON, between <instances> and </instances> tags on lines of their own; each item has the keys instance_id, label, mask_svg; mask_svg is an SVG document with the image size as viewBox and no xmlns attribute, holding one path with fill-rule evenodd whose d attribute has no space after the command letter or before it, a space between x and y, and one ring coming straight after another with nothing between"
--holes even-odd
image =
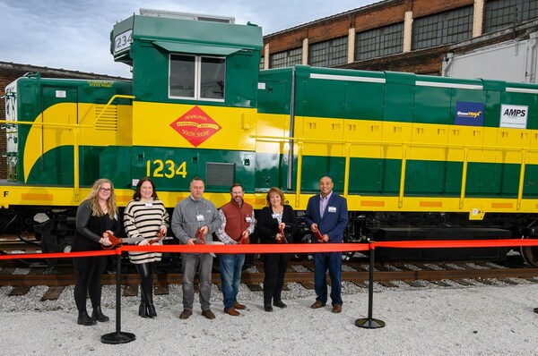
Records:
<instances>
[{"instance_id":1,"label":"black pants of the blonde woman with glasses at far left","mask_svg":"<svg viewBox=\"0 0 538 356\"><path fill-rule=\"evenodd\" d=\"M107 267L107 256L74 259L74 302L79 311L86 310L86 295L90 294L91 307L100 307L101 275Z\"/></svg>"}]
</instances>

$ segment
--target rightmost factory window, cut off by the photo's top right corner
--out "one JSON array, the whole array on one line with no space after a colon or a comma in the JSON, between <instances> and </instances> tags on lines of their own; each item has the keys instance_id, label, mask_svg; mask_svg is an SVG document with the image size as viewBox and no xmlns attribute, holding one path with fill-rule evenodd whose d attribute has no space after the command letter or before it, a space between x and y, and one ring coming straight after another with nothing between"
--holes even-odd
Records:
<instances>
[{"instance_id":1,"label":"rightmost factory window, cut off by the photo's top right corner","mask_svg":"<svg viewBox=\"0 0 538 356\"><path fill-rule=\"evenodd\" d=\"M536 17L538 17L536 0L490 0L485 4L484 32L506 29Z\"/></svg>"}]
</instances>

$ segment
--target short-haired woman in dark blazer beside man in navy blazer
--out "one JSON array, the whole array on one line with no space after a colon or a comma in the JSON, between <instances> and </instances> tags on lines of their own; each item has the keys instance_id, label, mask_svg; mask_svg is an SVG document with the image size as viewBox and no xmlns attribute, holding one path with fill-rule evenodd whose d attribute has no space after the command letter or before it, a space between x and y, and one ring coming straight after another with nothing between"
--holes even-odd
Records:
<instances>
[{"instance_id":1,"label":"short-haired woman in dark blazer beside man in navy blazer","mask_svg":"<svg viewBox=\"0 0 538 356\"><path fill-rule=\"evenodd\" d=\"M278 188L271 188L265 198L267 207L257 218L256 231L262 243L291 243L293 233L299 229L293 208L284 205L284 194ZM283 230L283 234L281 233ZM288 253L266 253L264 256L264 308L273 311L273 305L286 308L282 302L284 275L290 260Z\"/></svg>"}]
</instances>

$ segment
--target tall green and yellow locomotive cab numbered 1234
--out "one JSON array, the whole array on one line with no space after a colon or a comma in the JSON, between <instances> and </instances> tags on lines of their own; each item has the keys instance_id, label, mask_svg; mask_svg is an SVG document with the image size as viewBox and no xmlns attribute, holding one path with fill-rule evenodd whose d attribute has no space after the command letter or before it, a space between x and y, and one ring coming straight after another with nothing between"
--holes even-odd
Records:
<instances>
[{"instance_id":1,"label":"tall green and yellow locomotive cab numbered 1234","mask_svg":"<svg viewBox=\"0 0 538 356\"><path fill-rule=\"evenodd\" d=\"M228 192L237 181L254 189L249 136L256 128L261 29L196 19L141 10L114 26L111 52L134 68L133 144L118 148L128 152L130 179L112 177L124 187L149 176L160 191L188 191L201 176L207 192Z\"/></svg>"}]
</instances>

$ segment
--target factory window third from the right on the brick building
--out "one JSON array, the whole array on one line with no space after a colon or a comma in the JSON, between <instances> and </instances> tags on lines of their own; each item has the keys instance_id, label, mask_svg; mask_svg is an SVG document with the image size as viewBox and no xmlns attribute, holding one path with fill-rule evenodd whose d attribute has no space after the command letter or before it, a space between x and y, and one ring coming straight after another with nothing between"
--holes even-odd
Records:
<instances>
[{"instance_id":1,"label":"factory window third from the right on the brick building","mask_svg":"<svg viewBox=\"0 0 538 356\"><path fill-rule=\"evenodd\" d=\"M355 61L394 55L404 51L404 23L357 33Z\"/></svg>"}]
</instances>

